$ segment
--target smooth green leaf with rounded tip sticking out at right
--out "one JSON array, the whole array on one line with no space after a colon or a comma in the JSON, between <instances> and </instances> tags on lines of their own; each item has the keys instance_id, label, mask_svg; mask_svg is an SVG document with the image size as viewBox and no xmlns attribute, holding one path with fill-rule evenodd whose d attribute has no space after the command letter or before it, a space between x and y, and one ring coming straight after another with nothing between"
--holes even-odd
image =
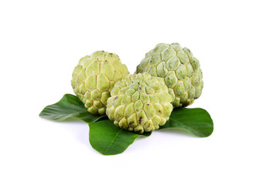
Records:
<instances>
[{"instance_id":1,"label":"smooth green leaf with rounded tip sticking out at right","mask_svg":"<svg viewBox=\"0 0 256 185\"><path fill-rule=\"evenodd\" d=\"M168 128L179 128L195 136L207 137L213 133L213 119L205 109L173 109L169 120L159 130Z\"/></svg>"}]
</instances>

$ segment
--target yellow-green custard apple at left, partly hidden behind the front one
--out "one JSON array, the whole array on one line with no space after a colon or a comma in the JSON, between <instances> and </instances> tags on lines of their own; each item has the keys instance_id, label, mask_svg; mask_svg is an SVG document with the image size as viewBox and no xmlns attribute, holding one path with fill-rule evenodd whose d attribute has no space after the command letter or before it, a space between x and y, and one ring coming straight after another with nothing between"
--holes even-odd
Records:
<instances>
[{"instance_id":1,"label":"yellow-green custard apple at left, partly hidden behind the front one","mask_svg":"<svg viewBox=\"0 0 256 185\"><path fill-rule=\"evenodd\" d=\"M104 115L114 83L128 74L118 55L97 51L80 59L71 85L89 113Z\"/></svg>"}]
</instances>

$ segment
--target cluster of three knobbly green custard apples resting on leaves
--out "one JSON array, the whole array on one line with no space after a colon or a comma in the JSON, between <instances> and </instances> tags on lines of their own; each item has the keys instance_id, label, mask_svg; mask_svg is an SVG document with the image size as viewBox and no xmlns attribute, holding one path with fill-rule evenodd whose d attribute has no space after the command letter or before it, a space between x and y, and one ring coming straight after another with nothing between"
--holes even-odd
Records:
<instances>
[{"instance_id":1,"label":"cluster of three knobbly green custard apples resting on leaves","mask_svg":"<svg viewBox=\"0 0 256 185\"><path fill-rule=\"evenodd\" d=\"M159 44L135 74L118 55L97 51L73 70L74 93L91 114L107 114L115 126L135 133L159 129L173 108L188 106L203 89L200 62L178 43Z\"/></svg>"}]
</instances>

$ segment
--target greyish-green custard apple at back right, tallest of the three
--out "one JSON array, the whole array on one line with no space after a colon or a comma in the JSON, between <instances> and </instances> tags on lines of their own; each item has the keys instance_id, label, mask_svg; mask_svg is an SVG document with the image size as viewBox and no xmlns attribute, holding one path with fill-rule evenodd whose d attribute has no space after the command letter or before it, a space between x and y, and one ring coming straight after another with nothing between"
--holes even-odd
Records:
<instances>
[{"instance_id":1,"label":"greyish-green custard apple at back right, tallest of the three","mask_svg":"<svg viewBox=\"0 0 256 185\"><path fill-rule=\"evenodd\" d=\"M140 72L164 78L174 108L191 105L202 93L200 62L179 43L156 45L137 66L136 73Z\"/></svg>"}]
</instances>

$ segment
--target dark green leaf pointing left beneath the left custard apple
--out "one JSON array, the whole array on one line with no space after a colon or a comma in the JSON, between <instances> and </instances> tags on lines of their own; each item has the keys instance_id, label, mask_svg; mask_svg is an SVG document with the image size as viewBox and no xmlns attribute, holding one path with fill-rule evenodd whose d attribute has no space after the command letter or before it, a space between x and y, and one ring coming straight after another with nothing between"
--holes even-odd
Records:
<instances>
[{"instance_id":1,"label":"dark green leaf pointing left beneath the left custard apple","mask_svg":"<svg viewBox=\"0 0 256 185\"><path fill-rule=\"evenodd\" d=\"M84 103L77 96L66 94L58 103L46 106L39 116L56 121L63 121L69 117L81 119L87 123L93 123L107 116L92 115L87 112Z\"/></svg>"}]
</instances>

